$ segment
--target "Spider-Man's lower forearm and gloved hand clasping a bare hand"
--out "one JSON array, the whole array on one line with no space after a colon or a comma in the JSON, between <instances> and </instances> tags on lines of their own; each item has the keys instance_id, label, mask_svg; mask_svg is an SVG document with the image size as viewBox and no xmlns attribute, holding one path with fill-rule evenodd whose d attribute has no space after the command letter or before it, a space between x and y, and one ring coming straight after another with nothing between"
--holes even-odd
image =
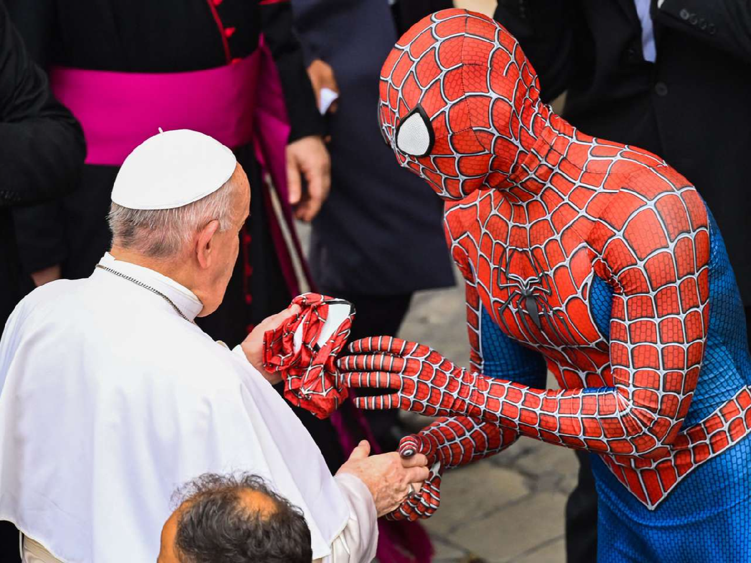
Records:
<instances>
[{"instance_id":1,"label":"Spider-Man's lower forearm and gloved hand clasping a bare hand","mask_svg":"<svg viewBox=\"0 0 751 563\"><path fill-rule=\"evenodd\" d=\"M399 444L400 455L424 454L430 476L421 490L406 498L400 507L388 514L388 518L430 518L441 502L443 471L492 456L513 443L516 437L516 432L466 417L439 418L417 434L405 436Z\"/></svg>"}]
</instances>

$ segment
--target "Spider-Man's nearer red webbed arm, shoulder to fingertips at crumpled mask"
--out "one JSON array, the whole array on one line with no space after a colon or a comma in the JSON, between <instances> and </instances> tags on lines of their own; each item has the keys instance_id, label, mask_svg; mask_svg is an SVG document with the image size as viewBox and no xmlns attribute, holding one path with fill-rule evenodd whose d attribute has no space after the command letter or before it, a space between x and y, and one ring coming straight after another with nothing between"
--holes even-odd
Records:
<instances>
[{"instance_id":1,"label":"Spider-Man's nearer red webbed arm, shoulder to fingertips at crumpled mask","mask_svg":"<svg viewBox=\"0 0 751 563\"><path fill-rule=\"evenodd\" d=\"M646 172L640 189L620 192L588 238L596 272L614 288L611 373L603 374L608 387L533 389L467 372L427 346L384 337L354 342L350 349L358 355L339 360L339 369L353 387L398 392L357 404L476 417L599 453L665 456L704 354L709 234L693 188L668 191L671 179L681 180L668 167ZM635 193L655 195L647 200Z\"/></svg>"}]
</instances>

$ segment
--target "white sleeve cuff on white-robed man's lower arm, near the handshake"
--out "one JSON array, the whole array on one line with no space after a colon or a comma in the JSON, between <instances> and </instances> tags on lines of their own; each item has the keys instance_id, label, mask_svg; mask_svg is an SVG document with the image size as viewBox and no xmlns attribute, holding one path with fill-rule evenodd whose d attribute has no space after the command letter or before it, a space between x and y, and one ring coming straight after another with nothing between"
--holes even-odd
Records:
<instances>
[{"instance_id":1,"label":"white sleeve cuff on white-robed man's lower arm, near the handshake","mask_svg":"<svg viewBox=\"0 0 751 563\"><path fill-rule=\"evenodd\" d=\"M331 543L331 555L314 563L369 563L378 546L378 515L370 491L358 477L340 473L334 477L349 506L349 520Z\"/></svg>"}]
</instances>

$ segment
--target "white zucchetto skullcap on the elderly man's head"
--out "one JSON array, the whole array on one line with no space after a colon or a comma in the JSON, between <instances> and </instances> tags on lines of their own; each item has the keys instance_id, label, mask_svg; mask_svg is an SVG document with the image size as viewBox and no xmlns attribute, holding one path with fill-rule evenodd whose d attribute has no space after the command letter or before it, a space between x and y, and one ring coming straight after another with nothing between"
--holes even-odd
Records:
<instances>
[{"instance_id":1,"label":"white zucchetto skullcap on the elderly man's head","mask_svg":"<svg viewBox=\"0 0 751 563\"><path fill-rule=\"evenodd\" d=\"M237 159L218 140L189 129L149 137L125 158L112 188L128 209L174 209L213 194L230 179Z\"/></svg>"}]
</instances>

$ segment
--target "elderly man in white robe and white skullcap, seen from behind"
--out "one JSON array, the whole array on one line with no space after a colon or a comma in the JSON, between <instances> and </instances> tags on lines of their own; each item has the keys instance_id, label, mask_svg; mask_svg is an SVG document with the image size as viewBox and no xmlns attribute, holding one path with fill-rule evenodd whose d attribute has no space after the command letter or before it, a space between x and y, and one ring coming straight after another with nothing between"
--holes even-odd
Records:
<instances>
[{"instance_id":1,"label":"elderly man in white robe and white skullcap, seen from behind","mask_svg":"<svg viewBox=\"0 0 751 563\"><path fill-rule=\"evenodd\" d=\"M368 456L336 477L261 366L268 318L233 350L194 323L227 287L250 191L232 152L167 131L125 160L113 245L89 278L29 294L0 341L0 519L25 561L155 561L177 485L250 471L303 510L315 559L370 561L376 516L427 477ZM414 485L412 483L415 483Z\"/></svg>"}]
</instances>

